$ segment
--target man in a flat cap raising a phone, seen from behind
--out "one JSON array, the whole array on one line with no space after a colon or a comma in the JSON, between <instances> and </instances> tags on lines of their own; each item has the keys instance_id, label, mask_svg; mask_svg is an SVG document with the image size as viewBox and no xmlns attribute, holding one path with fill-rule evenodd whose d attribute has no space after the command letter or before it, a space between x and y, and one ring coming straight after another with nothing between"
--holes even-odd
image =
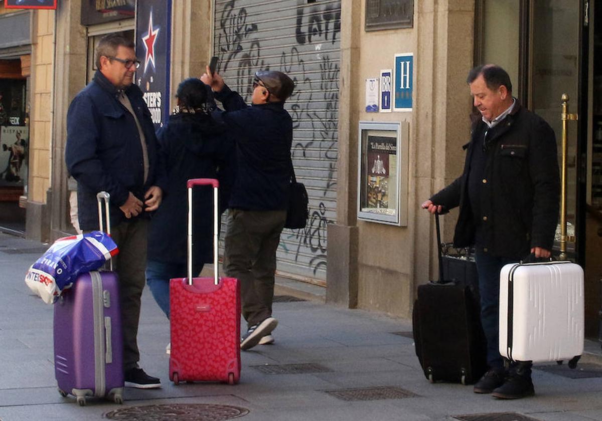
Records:
<instances>
[{"instance_id":1,"label":"man in a flat cap raising a phone, seen from behind","mask_svg":"<svg viewBox=\"0 0 602 421\"><path fill-rule=\"evenodd\" d=\"M276 250L287 217L293 120L284 109L294 82L282 72L255 73L252 105L232 91L209 67L200 78L225 111L213 117L225 123L237 145L237 177L228 203L224 268L241 285L247 331L240 348L273 343L278 320L272 317Z\"/></svg>"}]
</instances>

